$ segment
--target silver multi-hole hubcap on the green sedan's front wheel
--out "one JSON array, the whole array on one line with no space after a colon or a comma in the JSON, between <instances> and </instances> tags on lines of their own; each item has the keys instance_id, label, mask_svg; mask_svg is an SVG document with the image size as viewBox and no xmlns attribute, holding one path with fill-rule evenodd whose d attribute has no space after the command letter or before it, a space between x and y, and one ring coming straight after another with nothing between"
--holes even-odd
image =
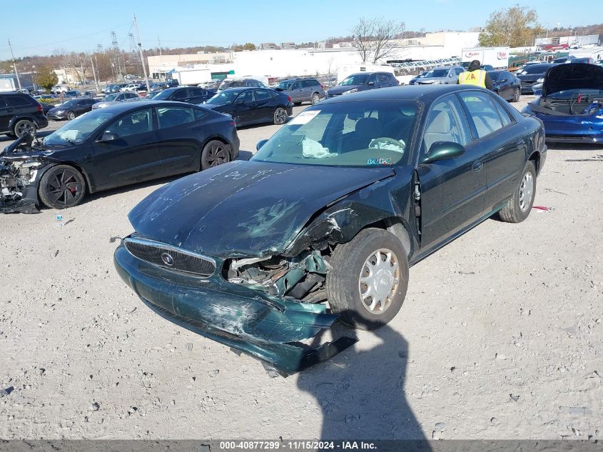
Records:
<instances>
[{"instance_id":1,"label":"silver multi-hole hubcap on the green sedan's front wheel","mask_svg":"<svg viewBox=\"0 0 603 452\"><path fill-rule=\"evenodd\" d=\"M382 314L392 304L400 283L400 267L397 256L387 248L381 248L366 259L358 290L365 309L372 314Z\"/></svg>"}]
</instances>

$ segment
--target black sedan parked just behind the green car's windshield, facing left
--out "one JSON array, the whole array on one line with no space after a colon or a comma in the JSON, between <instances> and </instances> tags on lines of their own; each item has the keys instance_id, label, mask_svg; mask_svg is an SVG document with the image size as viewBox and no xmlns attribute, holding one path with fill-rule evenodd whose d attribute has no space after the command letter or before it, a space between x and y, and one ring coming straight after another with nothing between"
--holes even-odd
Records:
<instances>
[{"instance_id":1,"label":"black sedan parked just behind the green car's windshield, facing left","mask_svg":"<svg viewBox=\"0 0 603 452\"><path fill-rule=\"evenodd\" d=\"M285 124L287 117L293 114L291 96L264 88L225 89L209 99L205 106L230 114L237 126L265 122Z\"/></svg>"}]
</instances>

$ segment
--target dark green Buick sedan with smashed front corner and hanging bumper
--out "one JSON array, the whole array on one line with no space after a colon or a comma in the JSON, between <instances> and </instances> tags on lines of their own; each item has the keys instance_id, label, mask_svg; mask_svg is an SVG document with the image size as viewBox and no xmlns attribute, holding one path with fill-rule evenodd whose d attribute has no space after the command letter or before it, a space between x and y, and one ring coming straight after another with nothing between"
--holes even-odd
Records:
<instances>
[{"instance_id":1,"label":"dark green Buick sedan with smashed front corner and hanging bumper","mask_svg":"<svg viewBox=\"0 0 603 452\"><path fill-rule=\"evenodd\" d=\"M527 219L546 151L540 121L475 86L338 96L141 201L116 268L164 318L299 371L350 345L298 345L337 318L392 320L410 266L493 214Z\"/></svg>"}]
</instances>

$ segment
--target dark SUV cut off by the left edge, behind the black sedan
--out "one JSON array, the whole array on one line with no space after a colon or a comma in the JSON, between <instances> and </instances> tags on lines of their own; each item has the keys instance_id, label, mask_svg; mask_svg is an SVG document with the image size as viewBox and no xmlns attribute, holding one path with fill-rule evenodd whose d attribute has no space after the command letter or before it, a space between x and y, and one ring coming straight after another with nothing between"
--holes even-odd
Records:
<instances>
[{"instance_id":1,"label":"dark SUV cut off by the left edge, behind the black sedan","mask_svg":"<svg viewBox=\"0 0 603 452\"><path fill-rule=\"evenodd\" d=\"M32 129L44 129L48 119L36 99L18 92L0 93L0 134L21 138Z\"/></svg>"}]
</instances>

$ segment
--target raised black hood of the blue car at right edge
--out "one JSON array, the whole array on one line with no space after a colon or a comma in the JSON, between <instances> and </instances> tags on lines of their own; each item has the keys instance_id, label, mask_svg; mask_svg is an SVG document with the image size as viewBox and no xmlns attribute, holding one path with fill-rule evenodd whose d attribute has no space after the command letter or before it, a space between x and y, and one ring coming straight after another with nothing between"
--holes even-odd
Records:
<instances>
[{"instance_id":1,"label":"raised black hood of the blue car at right edge","mask_svg":"<svg viewBox=\"0 0 603 452\"><path fill-rule=\"evenodd\" d=\"M552 66L544 76L542 96L568 89L603 89L603 67L586 63Z\"/></svg>"}]
</instances>

